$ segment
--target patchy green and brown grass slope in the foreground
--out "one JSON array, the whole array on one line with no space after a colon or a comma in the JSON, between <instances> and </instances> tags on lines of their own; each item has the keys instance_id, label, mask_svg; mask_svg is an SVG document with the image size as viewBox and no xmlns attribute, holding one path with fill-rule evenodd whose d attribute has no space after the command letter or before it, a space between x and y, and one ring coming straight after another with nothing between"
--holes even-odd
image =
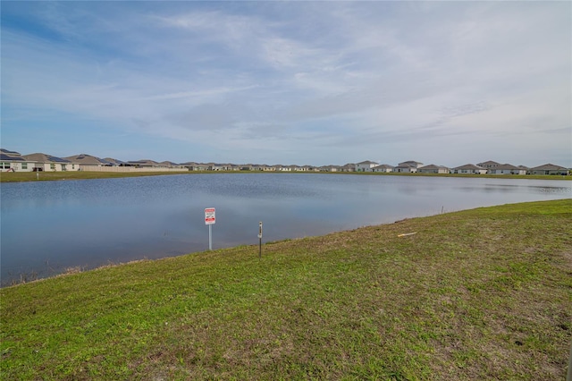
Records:
<instances>
[{"instance_id":1,"label":"patchy green and brown grass slope in the foreground","mask_svg":"<svg viewBox=\"0 0 572 381\"><path fill-rule=\"evenodd\" d=\"M4 288L0 378L561 380L571 222L478 208Z\"/></svg>"}]
</instances>

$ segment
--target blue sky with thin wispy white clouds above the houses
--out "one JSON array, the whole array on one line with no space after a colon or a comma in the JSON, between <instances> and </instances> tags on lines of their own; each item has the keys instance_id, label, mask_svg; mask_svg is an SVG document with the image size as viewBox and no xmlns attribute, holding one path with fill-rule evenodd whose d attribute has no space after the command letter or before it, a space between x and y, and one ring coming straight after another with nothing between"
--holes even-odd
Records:
<instances>
[{"instance_id":1,"label":"blue sky with thin wispy white clouds above the houses","mask_svg":"<svg viewBox=\"0 0 572 381\"><path fill-rule=\"evenodd\" d=\"M572 166L572 3L2 1L2 148Z\"/></svg>"}]
</instances>

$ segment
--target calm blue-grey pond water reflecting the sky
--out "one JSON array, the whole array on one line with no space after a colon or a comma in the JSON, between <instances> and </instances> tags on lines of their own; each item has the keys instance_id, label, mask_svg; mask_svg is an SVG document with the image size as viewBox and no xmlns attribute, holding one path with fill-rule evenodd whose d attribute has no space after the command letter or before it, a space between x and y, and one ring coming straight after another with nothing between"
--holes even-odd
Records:
<instances>
[{"instance_id":1,"label":"calm blue-grey pond water reflecting the sky","mask_svg":"<svg viewBox=\"0 0 572 381\"><path fill-rule=\"evenodd\" d=\"M571 183L332 174L193 174L1 186L2 284L23 274L277 241L444 210L567 199Z\"/></svg>"}]
</instances>

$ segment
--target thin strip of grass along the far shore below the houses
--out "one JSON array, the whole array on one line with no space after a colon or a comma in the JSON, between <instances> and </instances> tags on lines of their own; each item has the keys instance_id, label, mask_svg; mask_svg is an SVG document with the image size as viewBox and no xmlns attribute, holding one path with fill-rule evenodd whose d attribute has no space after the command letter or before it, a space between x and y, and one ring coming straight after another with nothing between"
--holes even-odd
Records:
<instances>
[{"instance_id":1,"label":"thin strip of grass along the far shore below the houses","mask_svg":"<svg viewBox=\"0 0 572 381\"><path fill-rule=\"evenodd\" d=\"M141 173L115 173L115 172L3 172L0 173L0 182L46 182L55 180L87 180L87 179L109 179L118 177L139 177L156 176L164 174L360 174L366 176L425 176L425 177L470 177L470 178L490 178L490 179L533 179L533 180L568 180L572 181L572 176L556 176L541 174L383 174L374 172L259 172L259 171L197 171L197 172L141 172Z\"/></svg>"}]
</instances>

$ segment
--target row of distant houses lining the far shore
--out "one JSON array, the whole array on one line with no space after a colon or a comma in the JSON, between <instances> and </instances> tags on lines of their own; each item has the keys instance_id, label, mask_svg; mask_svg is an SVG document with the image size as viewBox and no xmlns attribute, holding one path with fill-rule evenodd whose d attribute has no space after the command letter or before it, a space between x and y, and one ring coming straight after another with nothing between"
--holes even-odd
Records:
<instances>
[{"instance_id":1,"label":"row of distant houses lining the far shore","mask_svg":"<svg viewBox=\"0 0 572 381\"><path fill-rule=\"evenodd\" d=\"M72 157L54 157L42 153L21 155L19 152L0 149L0 171L43 172L43 171L263 171L263 172L377 172L400 174L569 174L562 165L545 164L532 168L525 165L501 164L494 161L466 164L456 167L445 165L424 165L409 160L398 165L379 164L366 160L346 165L257 165L257 164L217 164L217 163L173 163L154 160L126 161L112 157L99 158L87 154Z\"/></svg>"}]
</instances>

